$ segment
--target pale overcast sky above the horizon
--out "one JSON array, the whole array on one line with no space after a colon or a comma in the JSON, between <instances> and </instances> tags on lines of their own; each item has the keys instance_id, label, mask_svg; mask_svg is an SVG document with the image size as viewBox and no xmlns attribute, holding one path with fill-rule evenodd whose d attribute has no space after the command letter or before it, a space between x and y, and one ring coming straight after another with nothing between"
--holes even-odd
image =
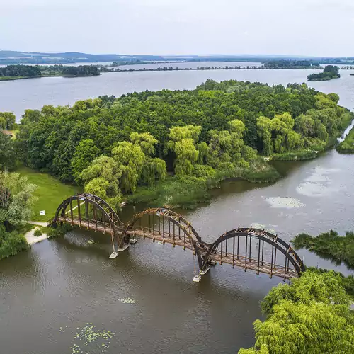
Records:
<instances>
[{"instance_id":1,"label":"pale overcast sky above the horizon","mask_svg":"<svg viewBox=\"0 0 354 354\"><path fill-rule=\"evenodd\" d=\"M354 0L1 0L0 50L354 56Z\"/></svg>"}]
</instances>

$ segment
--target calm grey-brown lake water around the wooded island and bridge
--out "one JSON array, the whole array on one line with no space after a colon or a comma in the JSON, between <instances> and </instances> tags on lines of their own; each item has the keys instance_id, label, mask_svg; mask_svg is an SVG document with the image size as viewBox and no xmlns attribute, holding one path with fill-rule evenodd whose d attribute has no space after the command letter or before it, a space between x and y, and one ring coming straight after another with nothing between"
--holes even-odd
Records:
<instances>
[{"instance_id":1,"label":"calm grey-brown lake water around the wooded island and bridge","mask_svg":"<svg viewBox=\"0 0 354 354\"><path fill-rule=\"evenodd\" d=\"M270 84L302 82L308 73L150 72L13 81L0 83L0 110L11 105L11 110L21 114L25 107L72 103L100 94L193 88L207 77ZM354 78L346 73L341 79L315 84L321 91L340 94L341 104L353 108ZM183 213L205 241L214 240L226 229L251 224L278 232L286 240L299 232L354 229L354 156L330 151L314 161L276 166L284 176L278 183L226 182L212 190L210 205ZM139 208L136 206L135 211ZM129 219L133 211L127 208L122 219ZM88 244L90 239L95 244ZM71 353L69 346L74 343L76 328L93 322L116 334L108 349L111 354L234 354L241 346L253 345L252 322L261 318L258 303L270 287L281 282L217 265L202 282L193 284L193 256L189 251L148 241L139 241L115 260L108 259L110 252L108 236L71 232L1 261L0 352ZM333 265L307 251L299 254L307 265L353 273L344 265ZM135 303L121 301L127 298Z\"/></svg>"}]
</instances>

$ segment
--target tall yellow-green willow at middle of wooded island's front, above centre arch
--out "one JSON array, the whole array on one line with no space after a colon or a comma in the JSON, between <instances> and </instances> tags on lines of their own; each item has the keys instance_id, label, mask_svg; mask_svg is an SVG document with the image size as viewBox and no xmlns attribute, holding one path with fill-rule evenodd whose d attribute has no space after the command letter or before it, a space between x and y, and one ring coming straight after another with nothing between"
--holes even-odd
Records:
<instances>
[{"instance_id":1,"label":"tall yellow-green willow at middle of wooded island's front, above centre arch","mask_svg":"<svg viewBox=\"0 0 354 354\"><path fill-rule=\"evenodd\" d=\"M202 127L195 125L170 129L167 147L176 154L174 161L176 175L191 175L193 173L199 157L197 142L201 131Z\"/></svg>"}]
</instances>

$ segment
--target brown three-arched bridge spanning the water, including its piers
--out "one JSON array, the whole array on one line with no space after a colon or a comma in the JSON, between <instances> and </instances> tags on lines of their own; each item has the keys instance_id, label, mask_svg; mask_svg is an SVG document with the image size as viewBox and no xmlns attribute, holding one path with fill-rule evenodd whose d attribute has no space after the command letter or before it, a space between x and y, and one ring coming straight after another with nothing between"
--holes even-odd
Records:
<instances>
[{"instance_id":1,"label":"brown three-arched bridge spanning the water, including its piers","mask_svg":"<svg viewBox=\"0 0 354 354\"><path fill-rule=\"evenodd\" d=\"M113 253L135 244L137 237L161 244L171 244L189 249L198 258L200 280L210 265L227 263L232 268L265 273L270 278L283 280L299 277L304 265L290 244L278 235L253 227L237 227L219 236L214 242L202 241L194 227L182 215L173 210L157 207L139 212L127 224L115 210L96 195L81 193L67 198L59 205L55 217L48 225L69 223L95 232L111 235Z\"/></svg>"}]
</instances>

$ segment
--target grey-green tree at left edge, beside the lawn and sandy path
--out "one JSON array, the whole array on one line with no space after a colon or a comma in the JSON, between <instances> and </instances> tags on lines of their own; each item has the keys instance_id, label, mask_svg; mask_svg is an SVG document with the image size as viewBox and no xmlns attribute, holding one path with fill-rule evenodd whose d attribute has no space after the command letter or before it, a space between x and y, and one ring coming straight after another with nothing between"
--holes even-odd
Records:
<instances>
[{"instance_id":1,"label":"grey-green tree at left edge, beside the lawn and sandy path","mask_svg":"<svg viewBox=\"0 0 354 354\"><path fill-rule=\"evenodd\" d=\"M35 188L36 185L28 183L27 176L0 171L0 223L7 232L30 219Z\"/></svg>"}]
</instances>

